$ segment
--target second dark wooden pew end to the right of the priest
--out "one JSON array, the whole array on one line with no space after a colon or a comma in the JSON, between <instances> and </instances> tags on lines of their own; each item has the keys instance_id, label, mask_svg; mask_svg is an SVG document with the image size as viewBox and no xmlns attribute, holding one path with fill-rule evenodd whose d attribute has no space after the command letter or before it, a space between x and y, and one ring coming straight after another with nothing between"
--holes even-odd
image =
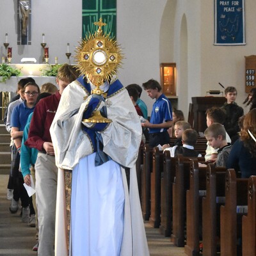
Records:
<instances>
[{"instance_id":1,"label":"second dark wooden pew end to the right of the priest","mask_svg":"<svg viewBox=\"0 0 256 256\"><path fill-rule=\"evenodd\" d=\"M153 148L152 172L150 175L150 218L154 228L160 226L161 214L161 173L163 173L163 151Z\"/></svg>"}]
</instances>

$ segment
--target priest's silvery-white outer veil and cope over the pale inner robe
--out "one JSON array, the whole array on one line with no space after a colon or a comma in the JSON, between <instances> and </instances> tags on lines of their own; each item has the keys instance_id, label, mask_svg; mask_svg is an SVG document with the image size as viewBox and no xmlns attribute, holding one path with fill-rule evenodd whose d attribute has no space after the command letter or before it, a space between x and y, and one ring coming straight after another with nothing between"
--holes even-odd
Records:
<instances>
[{"instance_id":1,"label":"priest's silvery-white outer veil and cope over the pale inner robe","mask_svg":"<svg viewBox=\"0 0 256 256\"><path fill-rule=\"evenodd\" d=\"M63 169L73 170L80 159L93 153L90 138L81 129L83 112L88 103L86 102L87 96L88 92L78 81L69 84L61 95L58 111L50 129L56 164L59 168L56 205L56 256L68 256ZM106 99L106 106L108 118L112 122L105 131L100 132L104 144L103 151L116 163L131 168L130 189L128 191L125 170L120 166L125 198L124 232L120 256L147 256L149 252L135 169L141 142L140 119L127 90L124 88L113 95L109 95ZM72 247L72 244L70 246ZM83 255L82 252L81 255Z\"/></svg>"}]
</instances>

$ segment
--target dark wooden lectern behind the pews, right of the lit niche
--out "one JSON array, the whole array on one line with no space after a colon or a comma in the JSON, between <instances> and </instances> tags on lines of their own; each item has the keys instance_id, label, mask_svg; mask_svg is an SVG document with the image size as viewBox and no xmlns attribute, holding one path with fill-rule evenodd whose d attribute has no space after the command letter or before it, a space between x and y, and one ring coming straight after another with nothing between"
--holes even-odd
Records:
<instances>
[{"instance_id":1,"label":"dark wooden lectern behind the pews, right of the lit niche","mask_svg":"<svg viewBox=\"0 0 256 256\"><path fill-rule=\"evenodd\" d=\"M227 101L225 97L192 97L189 104L188 122L198 132L207 128L205 111L211 107L221 107Z\"/></svg>"}]
</instances>

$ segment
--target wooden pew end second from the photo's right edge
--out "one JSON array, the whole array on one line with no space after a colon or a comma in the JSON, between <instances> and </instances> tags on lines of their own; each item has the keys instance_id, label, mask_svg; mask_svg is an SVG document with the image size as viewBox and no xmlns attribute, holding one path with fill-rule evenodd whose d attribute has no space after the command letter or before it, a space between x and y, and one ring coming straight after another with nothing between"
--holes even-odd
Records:
<instances>
[{"instance_id":1,"label":"wooden pew end second from the photo's right edge","mask_svg":"<svg viewBox=\"0 0 256 256\"><path fill-rule=\"evenodd\" d=\"M225 205L220 209L221 255L240 256L242 248L237 248L237 240L242 237L244 213L237 213L237 207L239 210L247 207L248 179L237 179L236 171L228 169L225 186Z\"/></svg>"}]
</instances>

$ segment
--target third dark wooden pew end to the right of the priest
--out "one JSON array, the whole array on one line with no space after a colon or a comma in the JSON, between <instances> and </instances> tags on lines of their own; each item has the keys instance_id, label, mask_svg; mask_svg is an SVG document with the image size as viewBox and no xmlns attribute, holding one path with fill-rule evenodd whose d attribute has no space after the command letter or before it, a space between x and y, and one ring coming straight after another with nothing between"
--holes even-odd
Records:
<instances>
[{"instance_id":1,"label":"third dark wooden pew end to the right of the priest","mask_svg":"<svg viewBox=\"0 0 256 256\"><path fill-rule=\"evenodd\" d=\"M175 177L177 157L171 157L170 151L163 156L163 176L161 177L161 225L160 232L164 236L172 234L172 184Z\"/></svg>"}]
</instances>

